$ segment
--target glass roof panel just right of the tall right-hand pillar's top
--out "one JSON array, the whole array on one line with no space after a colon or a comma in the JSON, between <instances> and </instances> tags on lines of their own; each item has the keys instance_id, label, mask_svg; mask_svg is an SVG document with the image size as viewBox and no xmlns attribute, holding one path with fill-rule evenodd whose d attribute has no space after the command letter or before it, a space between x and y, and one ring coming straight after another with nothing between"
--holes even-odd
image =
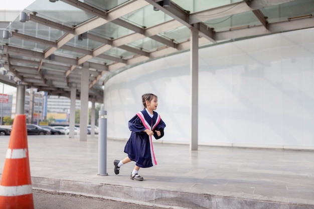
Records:
<instances>
[{"instance_id":1,"label":"glass roof panel just right of the tall right-hand pillar's top","mask_svg":"<svg viewBox=\"0 0 314 209\"><path fill-rule=\"evenodd\" d=\"M228 31L238 27L253 27L262 25L253 12L240 13L229 17L218 18L204 22L216 32Z\"/></svg>"}]
</instances>

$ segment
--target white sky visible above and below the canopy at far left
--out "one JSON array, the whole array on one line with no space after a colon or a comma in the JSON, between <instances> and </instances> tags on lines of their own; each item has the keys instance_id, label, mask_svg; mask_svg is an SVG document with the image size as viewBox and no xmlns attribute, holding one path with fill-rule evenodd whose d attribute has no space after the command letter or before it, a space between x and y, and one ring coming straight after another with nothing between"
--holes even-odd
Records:
<instances>
[{"instance_id":1,"label":"white sky visible above and below the canopy at far left","mask_svg":"<svg viewBox=\"0 0 314 209\"><path fill-rule=\"evenodd\" d=\"M29 5L31 5L36 0L10 0L10 1L2 1L0 10L24 10ZM47 0L48 1L48 0ZM4 91L3 91L4 89ZM11 93L16 91L15 87L9 85L3 85L0 83L0 93L4 92L4 94Z\"/></svg>"}]
</instances>

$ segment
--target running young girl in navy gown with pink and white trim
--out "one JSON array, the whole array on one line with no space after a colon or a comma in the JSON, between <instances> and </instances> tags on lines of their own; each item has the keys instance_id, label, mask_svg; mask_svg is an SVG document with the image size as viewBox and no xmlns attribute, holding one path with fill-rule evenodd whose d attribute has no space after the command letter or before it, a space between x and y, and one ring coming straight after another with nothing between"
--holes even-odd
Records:
<instances>
[{"instance_id":1,"label":"running young girl in navy gown with pink and white trim","mask_svg":"<svg viewBox=\"0 0 314 209\"><path fill-rule=\"evenodd\" d=\"M154 110L157 109L158 98L153 94L142 95L144 110L128 121L131 136L125 144L124 152L127 157L123 160L114 160L114 173L119 174L120 167L130 161L135 161L135 167L131 173L132 180L143 180L138 175L140 167L151 167L156 165L155 154L152 147L152 138L160 139L164 136L166 124L160 115Z\"/></svg>"}]
</instances>

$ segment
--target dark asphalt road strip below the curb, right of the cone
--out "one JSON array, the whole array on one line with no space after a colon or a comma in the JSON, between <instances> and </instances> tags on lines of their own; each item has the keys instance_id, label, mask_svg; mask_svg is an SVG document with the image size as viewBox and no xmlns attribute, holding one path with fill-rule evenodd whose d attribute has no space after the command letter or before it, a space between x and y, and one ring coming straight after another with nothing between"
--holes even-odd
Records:
<instances>
[{"instance_id":1,"label":"dark asphalt road strip below the curb, right of the cone","mask_svg":"<svg viewBox=\"0 0 314 209\"><path fill-rule=\"evenodd\" d=\"M33 199L35 209L165 209L163 207L43 190L34 190Z\"/></svg>"}]
</instances>

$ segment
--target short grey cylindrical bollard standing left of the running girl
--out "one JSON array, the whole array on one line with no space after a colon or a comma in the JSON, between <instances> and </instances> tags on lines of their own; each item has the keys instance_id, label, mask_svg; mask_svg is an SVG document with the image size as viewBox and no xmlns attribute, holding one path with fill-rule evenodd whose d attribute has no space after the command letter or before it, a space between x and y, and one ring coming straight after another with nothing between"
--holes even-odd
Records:
<instances>
[{"instance_id":1,"label":"short grey cylindrical bollard standing left of the running girl","mask_svg":"<svg viewBox=\"0 0 314 209\"><path fill-rule=\"evenodd\" d=\"M107 111L99 111L98 119L98 174L101 176L107 173Z\"/></svg>"}]
</instances>

